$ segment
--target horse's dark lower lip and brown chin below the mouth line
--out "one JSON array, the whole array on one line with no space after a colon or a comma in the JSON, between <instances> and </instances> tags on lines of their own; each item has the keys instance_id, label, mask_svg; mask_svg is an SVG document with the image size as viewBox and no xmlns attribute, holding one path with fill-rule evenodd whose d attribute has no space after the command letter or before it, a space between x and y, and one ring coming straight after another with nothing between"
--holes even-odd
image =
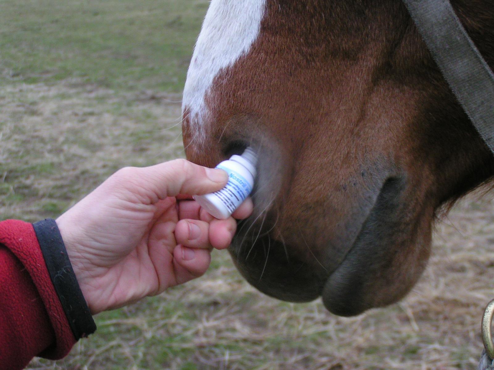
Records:
<instances>
[{"instance_id":1,"label":"horse's dark lower lip and brown chin below the mouth line","mask_svg":"<svg viewBox=\"0 0 494 370\"><path fill-rule=\"evenodd\" d=\"M329 311L358 315L398 301L415 285L430 255L434 209L406 199L413 197L402 179L383 185L352 248L325 284Z\"/></svg>"}]
</instances>

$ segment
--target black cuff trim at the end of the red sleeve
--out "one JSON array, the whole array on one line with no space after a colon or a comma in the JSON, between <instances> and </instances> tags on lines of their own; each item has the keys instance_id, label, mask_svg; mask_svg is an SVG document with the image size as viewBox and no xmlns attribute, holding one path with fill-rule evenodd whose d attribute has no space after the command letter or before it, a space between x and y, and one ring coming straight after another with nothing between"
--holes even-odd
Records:
<instances>
[{"instance_id":1,"label":"black cuff trim at the end of the red sleeve","mask_svg":"<svg viewBox=\"0 0 494 370\"><path fill-rule=\"evenodd\" d=\"M39 221L33 223L33 227L51 282L76 340L94 333L96 324L82 295L55 220Z\"/></svg>"}]
</instances>

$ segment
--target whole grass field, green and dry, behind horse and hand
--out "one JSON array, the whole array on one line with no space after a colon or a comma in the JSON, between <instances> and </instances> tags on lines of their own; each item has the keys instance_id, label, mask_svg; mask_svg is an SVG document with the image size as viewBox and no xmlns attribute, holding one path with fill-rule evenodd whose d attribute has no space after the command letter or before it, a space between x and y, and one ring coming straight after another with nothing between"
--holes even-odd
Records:
<instances>
[{"instance_id":1,"label":"whole grass field, green and dry, behind horse and hand","mask_svg":"<svg viewBox=\"0 0 494 370\"><path fill-rule=\"evenodd\" d=\"M0 213L56 217L124 165L183 156L180 91L206 0L0 1ZM258 293L225 253L206 276L96 316L29 369L475 369L494 297L494 202L469 196L401 303L355 318Z\"/></svg>"}]
</instances>

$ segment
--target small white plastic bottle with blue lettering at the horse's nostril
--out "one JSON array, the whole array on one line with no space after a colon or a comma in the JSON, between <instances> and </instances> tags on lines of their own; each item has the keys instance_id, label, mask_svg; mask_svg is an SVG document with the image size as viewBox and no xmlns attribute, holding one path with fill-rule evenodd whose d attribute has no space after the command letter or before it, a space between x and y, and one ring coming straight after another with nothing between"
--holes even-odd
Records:
<instances>
[{"instance_id":1,"label":"small white plastic bottle with blue lettering at the horse's nostril","mask_svg":"<svg viewBox=\"0 0 494 370\"><path fill-rule=\"evenodd\" d=\"M226 186L214 193L195 195L194 199L215 218L227 219L252 191L256 162L257 155L250 147L242 155L232 155L216 166L228 173Z\"/></svg>"}]
</instances>

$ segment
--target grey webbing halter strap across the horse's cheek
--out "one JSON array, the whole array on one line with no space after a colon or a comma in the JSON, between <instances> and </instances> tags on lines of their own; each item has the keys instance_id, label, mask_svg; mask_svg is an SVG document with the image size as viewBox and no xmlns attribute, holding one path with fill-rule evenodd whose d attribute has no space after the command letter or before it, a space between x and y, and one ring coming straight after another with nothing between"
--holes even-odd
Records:
<instances>
[{"instance_id":1,"label":"grey webbing halter strap across the horse's cheek","mask_svg":"<svg viewBox=\"0 0 494 370\"><path fill-rule=\"evenodd\" d=\"M494 74L448 0L403 0L429 51L494 153Z\"/></svg>"}]
</instances>

